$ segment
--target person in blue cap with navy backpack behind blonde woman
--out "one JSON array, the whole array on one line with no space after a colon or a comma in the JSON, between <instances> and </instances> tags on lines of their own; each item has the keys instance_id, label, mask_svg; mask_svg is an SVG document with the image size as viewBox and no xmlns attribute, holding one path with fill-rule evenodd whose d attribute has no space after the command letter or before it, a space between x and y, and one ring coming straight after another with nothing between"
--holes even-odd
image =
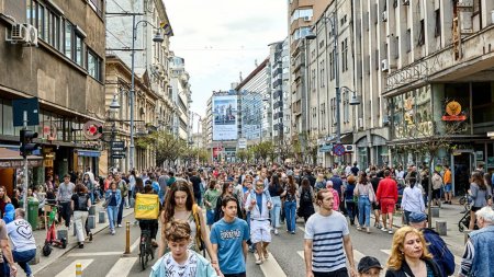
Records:
<instances>
[{"instance_id":1,"label":"person in blue cap with navy backpack behind blonde woman","mask_svg":"<svg viewBox=\"0 0 494 277\"><path fill-rule=\"evenodd\" d=\"M433 255L434 262L441 270L441 277L451 276L454 274L454 256L448 250L441 236L430 228L427 227L427 215L424 212L409 213L409 226L419 230L424 234L427 250Z\"/></svg>"}]
</instances>

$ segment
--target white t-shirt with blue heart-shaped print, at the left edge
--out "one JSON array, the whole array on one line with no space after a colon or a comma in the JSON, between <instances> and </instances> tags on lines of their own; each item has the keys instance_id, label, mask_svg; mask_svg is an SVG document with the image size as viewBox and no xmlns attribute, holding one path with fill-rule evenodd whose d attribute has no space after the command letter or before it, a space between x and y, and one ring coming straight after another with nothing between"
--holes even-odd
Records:
<instances>
[{"instance_id":1,"label":"white t-shirt with blue heart-shaped print, at the left edge","mask_svg":"<svg viewBox=\"0 0 494 277\"><path fill-rule=\"evenodd\" d=\"M33 236L33 229L25 219L15 219L7 224L7 232L13 244L13 250L23 252L36 249L36 242Z\"/></svg>"}]
</instances>

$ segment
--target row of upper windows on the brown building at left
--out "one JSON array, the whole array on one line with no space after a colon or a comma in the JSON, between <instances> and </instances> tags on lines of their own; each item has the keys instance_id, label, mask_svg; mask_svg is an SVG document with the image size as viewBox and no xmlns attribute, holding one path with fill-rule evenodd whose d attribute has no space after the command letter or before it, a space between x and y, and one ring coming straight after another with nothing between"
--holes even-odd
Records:
<instances>
[{"instance_id":1,"label":"row of upper windows on the brown building at left","mask_svg":"<svg viewBox=\"0 0 494 277\"><path fill-rule=\"evenodd\" d=\"M37 28L38 39L87 69L96 80L102 81L103 59L85 44L86 34L57 9L41 0L26 1L27 22Z\"/></svg>"}]
</instances>

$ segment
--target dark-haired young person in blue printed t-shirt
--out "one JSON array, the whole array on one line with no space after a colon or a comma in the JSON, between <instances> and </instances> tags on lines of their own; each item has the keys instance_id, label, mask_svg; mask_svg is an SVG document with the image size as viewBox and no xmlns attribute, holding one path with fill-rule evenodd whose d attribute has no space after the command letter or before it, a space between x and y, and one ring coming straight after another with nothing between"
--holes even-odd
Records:
<instances>
[{"instance_id":1,"label":"dark-haired young person in blue printed t-shirt","mask_svg":"<svg viewBox=\"0 0 494 277\"><path fill-rule=\"evenodd\" d=\"M212 263L220 265L224 277L246 276L249 229L247 222L237 217L237 205L238 200L233 196L223 198L223 218L211 229L211 244L214 256L217 256L217 259L212 258Z\"/></svg>"}]
</instances>

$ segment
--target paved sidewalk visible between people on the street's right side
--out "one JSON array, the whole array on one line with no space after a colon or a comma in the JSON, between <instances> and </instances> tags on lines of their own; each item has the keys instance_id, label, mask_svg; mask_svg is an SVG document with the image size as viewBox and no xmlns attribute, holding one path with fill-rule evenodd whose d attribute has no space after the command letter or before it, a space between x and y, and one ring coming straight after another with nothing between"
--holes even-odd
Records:
<instances>
[{"instance_id":1,"label":"paved sidewalk visible between people on the street's right side","mask_svg":"<svg viewBox=\"0 0 494 277\"><path fill-rule=\"evenodd\" d=\"M448 244L449 250L458 256L462 256L464 251L464 233L460 232L458 229L458 221L464 216L461 213L464 208L462 205L458 204L458 197L452 199L452 205L442 204L439 209L439 217L433 218L431 228L436 229L436 221L442 220L447 223L447 235L441 235L446 244ZM426 209L427 211L427 209ZM393 226L396 228L402 227L401 213L395 213L393 217ZM468 228L465 228L468 230Z\"/></svg>"}]
</instances>

